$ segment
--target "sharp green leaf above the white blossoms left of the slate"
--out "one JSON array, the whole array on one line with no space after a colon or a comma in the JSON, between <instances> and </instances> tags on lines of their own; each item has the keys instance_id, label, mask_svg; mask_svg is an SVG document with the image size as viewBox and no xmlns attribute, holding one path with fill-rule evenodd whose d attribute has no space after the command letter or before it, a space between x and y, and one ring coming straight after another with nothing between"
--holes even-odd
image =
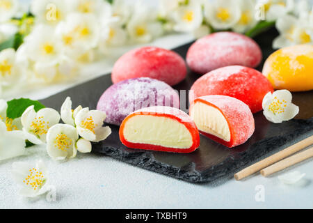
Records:
<instances>
[{"instance_id":1,"label":"sharp green leaf above the white blossoms left of the slate","mask_svg":"<svg viewBox=\"0 0 313 223\"><path fill-rule=\"evenodd\" d=\"M22 116L26 108L28 108L31 105L34 106L36 112L45 107L45 105L42 105L37 100L30 100L26 98L14 99L8 101L8 109L6 110L6 116L12 119L19 118L20 116Z\"/></svg>"}]
</instances>

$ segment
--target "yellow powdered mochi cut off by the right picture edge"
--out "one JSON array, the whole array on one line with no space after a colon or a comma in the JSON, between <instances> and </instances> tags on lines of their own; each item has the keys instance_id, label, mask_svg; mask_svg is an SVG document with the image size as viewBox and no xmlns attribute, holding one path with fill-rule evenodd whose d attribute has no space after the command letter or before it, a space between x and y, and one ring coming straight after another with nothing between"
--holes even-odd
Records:
<instances>
[{"instance_id":1,"label":"yellow powdered mochi cut off by the right picture edge","mask_svg":"<svg viewBox=\"0 0 313 223\"><path fill-rule=\"evenodd\" d=\"M310 91L313 89L313 45L284 47L266 59L263 75L274 89Z\"/></svg>"}]
</instances>

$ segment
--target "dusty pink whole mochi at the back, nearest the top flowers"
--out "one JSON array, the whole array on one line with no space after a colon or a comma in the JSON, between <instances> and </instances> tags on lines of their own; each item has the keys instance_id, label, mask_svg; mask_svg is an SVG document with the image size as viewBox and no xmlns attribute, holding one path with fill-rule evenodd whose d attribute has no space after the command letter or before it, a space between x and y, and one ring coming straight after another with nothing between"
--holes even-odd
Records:
<instances>
[{"instance_id":1,"label":"dusty pink whole mochi at the back, nearest the top flowers","mask_svg":"<svg viewBox=\"0 0 313 223\"><path fill-rule=\"evenodd\" d=\"M191 70L203 75L231 65L255 68L262 61L262 51L259 45L247 36L218 32L193 43L188 49L186 61Z\"/></svg>"}]
</instances>

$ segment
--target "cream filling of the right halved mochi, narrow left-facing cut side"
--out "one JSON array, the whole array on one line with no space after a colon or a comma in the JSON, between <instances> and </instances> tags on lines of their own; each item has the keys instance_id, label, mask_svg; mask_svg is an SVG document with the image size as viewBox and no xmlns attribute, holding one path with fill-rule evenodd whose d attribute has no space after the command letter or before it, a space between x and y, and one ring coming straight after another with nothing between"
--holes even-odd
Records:
<instances>
[{"instance_id":1,"label":"cream filling of the right halved mochi, narrow left-facing cut side","mask_svg":"<svg viewBox=\"0 0 313 223\"><path fill-rule=\"evenodd\" d=\"M215 107L195 102L190 115L198 130L213 134L224 141L230 141L230 127L223 114Z\"/></svg>"}]
</instances>

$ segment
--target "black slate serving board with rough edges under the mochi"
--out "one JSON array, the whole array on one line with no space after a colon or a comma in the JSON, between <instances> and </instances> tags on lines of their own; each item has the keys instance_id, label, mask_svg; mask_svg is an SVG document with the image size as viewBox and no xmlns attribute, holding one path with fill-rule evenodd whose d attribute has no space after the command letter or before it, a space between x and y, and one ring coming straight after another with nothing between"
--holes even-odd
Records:
<instances>
[{"instance_id":1,"label":"black slate serving board with rough edges under the mochi","mask_svg":"<svg viewBox=\"0 0 313 223\"><path fill-rule=\"evenodd\" d=\"M262 47L264 59L273 52L271 43L277 34L277 31L272 29L255 39ZM174 51L185 57L189 46L190 44L184 45ZM262 65L258 70L262 70ZM188 90L199 77L199 75L189 72L184 82L174 88ZM41 100L41 102L47 107L59 110L65 98L70 96L73 107L82 105L95 109L97 100L111 84L111 75L104 75ZM186 100L188 100L187 95ZM245 144L236 148L228 149L200 135L200 147L197 151L189 154L134 150L126 148L120 143L118 127L110 125L112 134L105 141L93 144L93 151L137 167L193 183L230 178L234 172L243 167L313 134L313 91L293 93L293 95L294 103L300 107L300 114L296 116L296 119L274 124L268 122L262 112L259 112L255 114L255 133Z\"/></svg>"}]
</instances>

